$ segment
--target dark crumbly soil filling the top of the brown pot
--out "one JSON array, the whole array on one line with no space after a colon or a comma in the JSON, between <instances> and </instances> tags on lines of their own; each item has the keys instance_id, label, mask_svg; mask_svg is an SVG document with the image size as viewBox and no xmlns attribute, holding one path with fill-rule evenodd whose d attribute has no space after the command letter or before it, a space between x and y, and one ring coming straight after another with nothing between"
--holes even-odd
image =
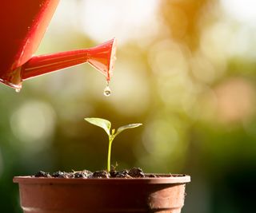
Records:
<instances>
[{"instance_id":1,"label":"dark crumbly soil filling the top of the brown pot","mask_svg":"<svg viewBox=\"0 0 256 213\"><path fill-rule=\"evenodd\" d=\"M110 172L105 170L90 172L88 170L78 171L78 172L54 172L50 174L49 172L39 171L34 174L34 177L54 177L54 178L144 178L144 177L157 177L155 175L146 176L142 172L141 168L131 168L130 170L116 171L111 169Z\"/></svg>"}]
</instances>

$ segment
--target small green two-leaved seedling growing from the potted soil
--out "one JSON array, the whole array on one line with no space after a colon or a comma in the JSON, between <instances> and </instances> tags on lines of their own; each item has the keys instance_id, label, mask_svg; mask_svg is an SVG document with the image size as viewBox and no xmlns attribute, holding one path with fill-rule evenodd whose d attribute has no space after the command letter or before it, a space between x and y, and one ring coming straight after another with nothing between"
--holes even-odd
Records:
<instances>
[{"instance_id":1,"label":"small green two-leaved seedling growing from the potted soil","mask_svg":"<svg viewBox=\"0 0 256 213\"><path fill-rule=\"evenodd\" d=\"M114 128L110 131L111 123L109 120L98 118L98 117L87 117L85 118L86 121L88 121L90 124L94 124L98 127L101 127L105 130L106 134L109 136L109 148L107 152L107 167L106 171L110 172L110 158L111 158L111 145L116 136L118 134L128 128L136 128L142 124L127 124L125 126L119 127L117 131L115 131Z\"/></svg>"}]
</instances>

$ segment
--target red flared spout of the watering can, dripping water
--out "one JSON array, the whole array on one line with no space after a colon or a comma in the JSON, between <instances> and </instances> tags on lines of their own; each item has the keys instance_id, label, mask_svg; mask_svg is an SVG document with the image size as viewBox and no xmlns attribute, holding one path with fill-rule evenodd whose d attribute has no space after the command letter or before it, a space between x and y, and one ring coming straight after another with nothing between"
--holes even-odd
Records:
<instances>
[{"instance_id":1,"label":"red flared spout of the watering can, dripping water","mask_svg":"<svg viewBox=\"0 0 256 213\"><path fill-rule=\"evenodd\" d=\"M71 50L32 57L20 71L21 80L88 62L110 81L114 68L116 39L89 49Z\"/></svg>"}]
</instances>

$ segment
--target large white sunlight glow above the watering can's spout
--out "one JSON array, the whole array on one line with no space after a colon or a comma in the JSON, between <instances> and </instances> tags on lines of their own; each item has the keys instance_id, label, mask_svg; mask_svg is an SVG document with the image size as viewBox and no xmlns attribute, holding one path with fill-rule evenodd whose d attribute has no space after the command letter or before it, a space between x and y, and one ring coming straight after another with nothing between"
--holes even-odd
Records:
<instances>
[{"instance_id":1,"label":"large white sunlight glow above the watering can's spout","mask_svg":"<svg viewBox=\"0 0 256 213\"><path fill-rule=\"evenodd\" d=\"M98 41L106 40L107 37L118 37L118 41L126 41L142 34L143 26L152 29L157 5L156 0L86 0L81 4L82 28Z\"/></svg>"}]
</instances>

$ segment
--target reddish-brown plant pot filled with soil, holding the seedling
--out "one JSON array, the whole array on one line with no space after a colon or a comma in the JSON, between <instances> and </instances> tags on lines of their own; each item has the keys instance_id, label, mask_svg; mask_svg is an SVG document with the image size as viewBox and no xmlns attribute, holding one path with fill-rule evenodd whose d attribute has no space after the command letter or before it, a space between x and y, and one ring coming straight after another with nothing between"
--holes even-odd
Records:
<instances>
[{"instance_id":1,"label":"reddish-brown plant pot filled with soil, holding the seedling","mask_svg":"<svg viewBox=\"0 0 256 213\"><path fill-rule=\"evenodd\" d=\"M134 179L14 177L24 213L181 212L190 176Z\"/></svg>"}]
</instances>

